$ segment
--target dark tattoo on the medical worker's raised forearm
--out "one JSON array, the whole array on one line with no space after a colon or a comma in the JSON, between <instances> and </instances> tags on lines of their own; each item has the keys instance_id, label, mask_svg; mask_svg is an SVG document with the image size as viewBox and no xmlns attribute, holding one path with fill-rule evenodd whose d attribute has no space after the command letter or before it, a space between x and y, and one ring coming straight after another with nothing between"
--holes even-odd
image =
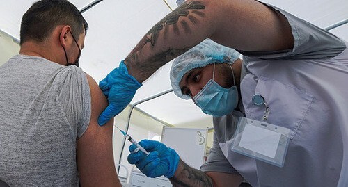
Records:
<instances>
[{"instance_id":1,"label":"dark tattoo on the medical worker's raised forearm","mask_svg":"<svg viewBox=\"0 0 348 187\"><path fill-rule=\"evenodd\" d=\"M169 60L184 53L189 48L186 47L184 49L168 49L166 51L158 51L155 53L155 55L150 56L150 59L147 59L146 62L141 62L139 59L142 54L144 54L143 56L146 56L145 54L147 53L147 51L141 51L141 49L143 49L146 44L151 44L151 47L155 47L159 35L162 35L164 40L169 34L174 33L175 35L180 35L179 28L182 28L184 33L191 33L189 22L192 24L197 24L197 17L205 16L202 11L203 9L205 9L205 6L199 1L182 3L182 6L173 10L173 12L164 17L164 19L161 19L161 21L159 21L155 26L152 27L152 29L150 29L150 31L148 31L148 33L146 33L139 44L137 44L129 56L127 56L125 61L131 66L139 68L141 72L145 73L145 71L148 71L145 70L147 68L152 70L152 72L155 72L157 68L161 67ZM188 19L182 19L179 21L180 17L187 17ZM143 65L143 63L148 65Z\"/></svg>"}]
</instances>

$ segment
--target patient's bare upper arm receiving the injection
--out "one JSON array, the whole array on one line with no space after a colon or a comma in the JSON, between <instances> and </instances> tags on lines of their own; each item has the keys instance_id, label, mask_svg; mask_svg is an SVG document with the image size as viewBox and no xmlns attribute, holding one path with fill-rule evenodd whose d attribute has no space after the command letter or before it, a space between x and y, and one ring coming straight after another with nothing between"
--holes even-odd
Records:
<instances>
[{"instance_id":1,"label":"patient's bare upper arm receiving the injection","mask_svg":"<svg viewBox=\"0 0 348 187\"><path fill-rule=\"evenodd\" d=\"M107 106L106 97L93 78L87 75L90 86L92 113L84 135L77 140L77 168L81 186L116 186L120 181L113 161L113 119L103 127L97 117Z\"/></svg>"}]
</instances>

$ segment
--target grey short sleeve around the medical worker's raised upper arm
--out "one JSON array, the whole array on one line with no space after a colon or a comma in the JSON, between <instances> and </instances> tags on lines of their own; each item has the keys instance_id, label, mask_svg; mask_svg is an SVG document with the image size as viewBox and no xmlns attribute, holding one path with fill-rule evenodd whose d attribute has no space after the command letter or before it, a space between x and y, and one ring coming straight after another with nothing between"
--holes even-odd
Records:
<instances>
[{"instance_id":1,"label":"grey short sleeve around the medical worker's raised upper arm","mask_svg":"<svg viewBox=\"0 0 348 187\"><path fill-rule=\"evenodd\" d=\"M329 31L299 19L285 10L267 5L287 18L294 37L294 48L283 51L239 51L248 58L317 59L333 58L346 49L345 42Z\"/></svg>"}]
</instances>

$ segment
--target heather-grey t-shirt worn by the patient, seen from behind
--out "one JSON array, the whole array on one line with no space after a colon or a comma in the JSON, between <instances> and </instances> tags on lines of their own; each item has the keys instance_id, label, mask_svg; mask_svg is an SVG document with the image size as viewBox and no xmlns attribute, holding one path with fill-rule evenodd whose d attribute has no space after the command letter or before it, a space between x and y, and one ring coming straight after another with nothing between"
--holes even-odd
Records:
<instances>
[{"instance_id":1,"label":"heather-grey t-shirt worn by the patient, seen from behind","mask_svg":"<svg viewBox=\"0 0 348 187\"><path fill-rule=\"evenodd\" d=\"M78 186L77 138L90 122L86 74L17 55L0 67L0 180Z\"/></svg>"}]
</instances>

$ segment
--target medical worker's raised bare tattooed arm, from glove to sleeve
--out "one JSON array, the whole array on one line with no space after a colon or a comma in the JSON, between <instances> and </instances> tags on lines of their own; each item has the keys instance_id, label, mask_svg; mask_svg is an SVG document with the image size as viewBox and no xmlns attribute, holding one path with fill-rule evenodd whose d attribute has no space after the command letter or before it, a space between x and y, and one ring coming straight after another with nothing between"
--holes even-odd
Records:
<instances>
[{"instance_id":1,"label":"medical worker's raised bare tattooed arm, from glove to sleeve","mask_svg":"<svg viewBox=\"0 0 348 187\"><path fill-rule=\"evenodd\" d=\"M215 42L244 51L292 48L287 19L254 0L187 0L145 34L125 59L139 82L199 42Z\"/></svg>"}]
</instances>

